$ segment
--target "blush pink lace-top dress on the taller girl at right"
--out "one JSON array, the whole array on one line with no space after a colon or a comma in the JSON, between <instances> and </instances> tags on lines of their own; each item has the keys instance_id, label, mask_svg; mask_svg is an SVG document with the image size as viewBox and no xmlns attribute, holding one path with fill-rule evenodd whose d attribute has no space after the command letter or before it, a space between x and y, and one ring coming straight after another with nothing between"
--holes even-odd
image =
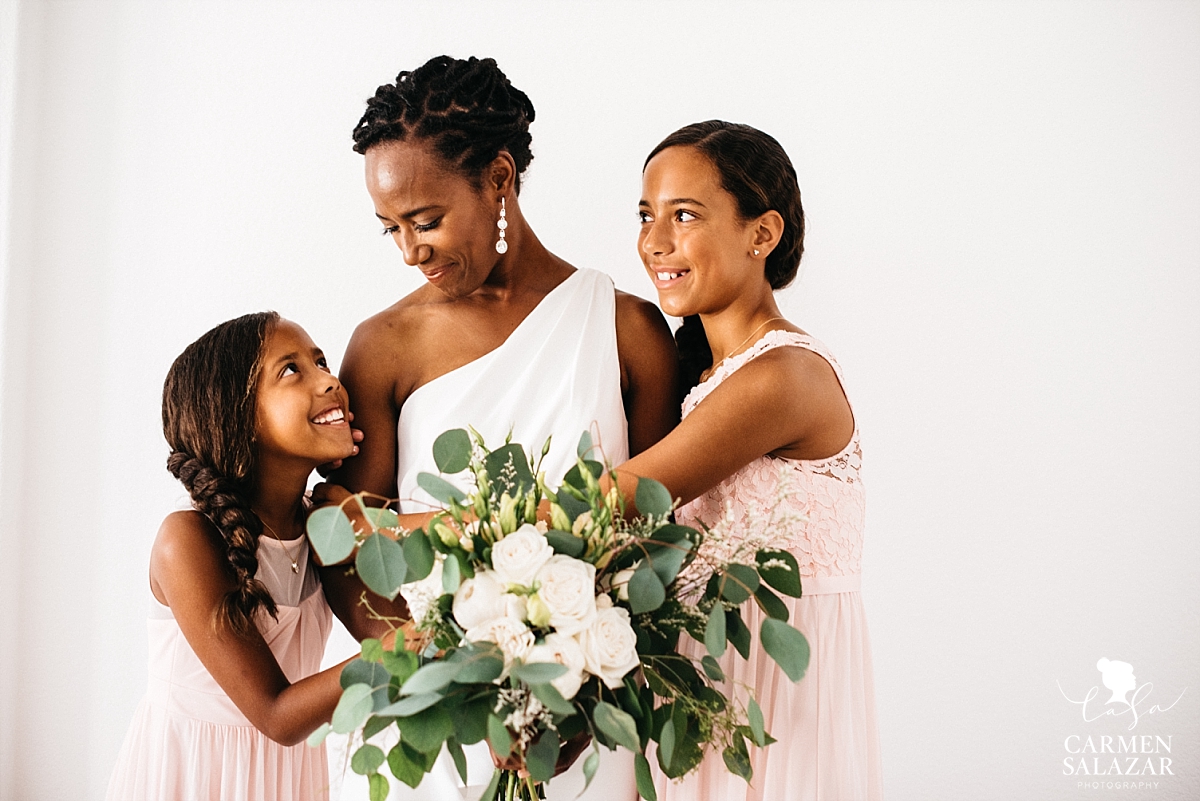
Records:
<instances>
[{"instance_id":1,"label":"blush pink lace-top dress on the taller girl at right","mask_svg":"<svg viewBox=\"0 0 1200 801\"><path fill-rule=\"evenodd\" d=\"M749 350L718 366L684 399L683 416L721 381L774 348L804 348L841 368L823 344L806 335L769 331ZM762 612L754 603L742 616L754 633L750 658L732 648L720 660L744 703L742 686L754 688L767 731L778 742L750 748L754 776L748 785L730 773L720 753L709 752L692 773L672 782L655 770L662 801L877 801L882 799L878 728L871 646L859 592L863 564L863 482L858 423L850 442L827 459L760 457L696 500L679 508L685 525L721 524L726 531L761 537L786 548L800 567L803 597L784 597L790 622L809 640L811 661L793 683L762 650ZM724 523L721 523L724 520ZM769 525L767 525L769 523ZM714 555L720 559L720 546ZM682 648L700 658L704 646L684 637Z\"/></svg>"}]
</instances>

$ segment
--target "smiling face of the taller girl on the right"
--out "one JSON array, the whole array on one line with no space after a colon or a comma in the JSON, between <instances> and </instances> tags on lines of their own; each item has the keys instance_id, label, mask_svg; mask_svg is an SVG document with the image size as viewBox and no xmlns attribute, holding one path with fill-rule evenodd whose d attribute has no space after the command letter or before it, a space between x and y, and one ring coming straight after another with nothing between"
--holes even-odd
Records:
<instances>
[{"instance_id":1,"label":"smiling face of the taller girl on the right","mask_svg":"<svg viewBox=\"0 0 1200 801\"><path fill-rule=\"evenodd\" d=\"M719 312L764 281L749 257L752 225L695 147L667 147L646 165L638 218L638 254L672 317Z\"/></svg>"}]
</instances>

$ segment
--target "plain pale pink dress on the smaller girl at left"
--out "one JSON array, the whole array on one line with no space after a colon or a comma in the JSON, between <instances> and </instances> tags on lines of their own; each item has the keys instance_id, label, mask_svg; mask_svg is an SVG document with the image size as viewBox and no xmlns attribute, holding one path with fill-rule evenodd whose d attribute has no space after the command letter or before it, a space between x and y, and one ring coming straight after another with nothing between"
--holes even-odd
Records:
<instances>
[{"instance_id":1,"label":"plain pale pink dress on the smaller girl at left","mask_svg":"<svg viewBox=\"0 0 1200 801\"><path fill-rule=\"evenodd\" d=\"M292 554L300 572L292 572ZM258 541L257 577L278 607L258 628L289 681L320 669L332 613L308 541ZM299 554L298 554L299 550ZM234 705L151 596L150 686L125 735L108 801L325 801L325 748L281 746Z\"/></svg>"}]
</instances>

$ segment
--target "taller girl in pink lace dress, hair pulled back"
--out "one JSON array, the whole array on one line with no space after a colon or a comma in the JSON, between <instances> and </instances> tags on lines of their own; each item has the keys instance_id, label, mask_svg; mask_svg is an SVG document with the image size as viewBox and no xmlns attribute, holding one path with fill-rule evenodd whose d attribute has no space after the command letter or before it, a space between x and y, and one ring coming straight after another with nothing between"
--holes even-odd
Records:
<instances>
[{"instance_id":1,"label":"taller girl in pink lace dress, hair pulled back","mask_svg":"<svg viewBox=\"0 0 1200 801\"><path fill-rule=\"evenodd\" d=\"M858 427L838 363L774 299L803 252L796 170L761 131L700 122L650 153L640 207L638 247L659 302L685 318L677 341L690 392L680 424L618 466L622 492L634 498L636 476L656 478L683 500L679 522L719 526L726 542L769 535L770 547L791 550L804 595L784 603L812 654L793 683L761 646L745 661L727 651L724 689L743 703L752 692L778 742L751 748L749 785L710 753L680 782L659 773L659 799L876 801ZM715 561L719 540L707 543ZM757 632L761 610L745 604L743 615Z\"/></svg>"}]
</instances>

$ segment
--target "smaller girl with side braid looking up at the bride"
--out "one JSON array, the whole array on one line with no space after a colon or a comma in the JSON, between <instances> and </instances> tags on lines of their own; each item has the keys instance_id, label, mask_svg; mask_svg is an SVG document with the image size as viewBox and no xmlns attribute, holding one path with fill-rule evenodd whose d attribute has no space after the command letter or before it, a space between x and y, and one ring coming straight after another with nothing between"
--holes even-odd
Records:
<instances>
[{"instance_id":1,"label":"smaller girl with side braid looking up at the bride","mask_svg":"<svg viewBox=\"0 0 1200 801\"><path fill-rule=\"evenodd\" d=\"M313 468L353 453L346 391L294 323L223 323L163 387L167 468L192 510L150 553L150 686L110 801L328 797L342 666L318 671L331 613L304 536Z\"/></svg>"}]
</instances>

